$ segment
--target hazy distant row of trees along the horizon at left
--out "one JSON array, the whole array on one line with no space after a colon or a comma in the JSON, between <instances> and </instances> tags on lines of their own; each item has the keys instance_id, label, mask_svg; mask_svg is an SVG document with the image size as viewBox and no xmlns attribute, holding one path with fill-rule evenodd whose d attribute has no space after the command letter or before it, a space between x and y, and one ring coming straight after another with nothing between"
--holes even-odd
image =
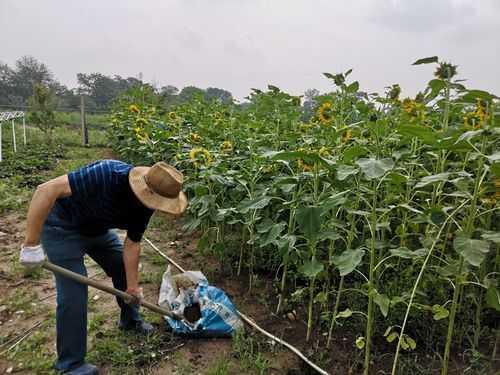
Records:
<instances>
[{"instance_id":1,"label":"hazy distant row of trees along the horizon at left","mask_svg":"<svg viewBox=\"0 0 500 375\"><path fill-rule=\"evenodd\" d=\"M107 76L101 73L78 73L78 87L69 88L60 83L48 66L33 56L23 56L13 67L0 62L0 109L22 109L32 106L36 87L40 85L50 91L52 105L57 109L78 110L80 95L86 97L88 111L108 111L114 100L125 91L138 85L148 85L135 77ZM231 102L233 95L224 89L209 87L202 89L186 86L178 89L167 85L152 87L160 95L166 107L182 104L193 96L207 100Z\"/></svg>"}]
</instances>

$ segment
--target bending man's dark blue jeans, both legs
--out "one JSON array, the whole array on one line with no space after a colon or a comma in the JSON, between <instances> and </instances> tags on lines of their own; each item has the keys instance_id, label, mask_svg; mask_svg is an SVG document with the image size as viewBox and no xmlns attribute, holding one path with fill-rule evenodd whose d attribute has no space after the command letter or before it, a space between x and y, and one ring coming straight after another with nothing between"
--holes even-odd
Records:
<instances>
[{"instance_id":1,"label":"bending man's dark blue jeans, both legs","mask_svg":"<svg viewBox=\"0 0 500 375\"><path fill-rule=\"evenodd\" d=\"M42 245L49 260L73 272L87 276L83 263L85 254L94 259L112 278L113 286L127 289L123 264L123 244L114 231L97 236L81 235L77 228L59 216L54 206L42 231ZM87 353L88 288L64 276L55 275L57 289L56 331L57 361L55 368L68 371L79 367ZM117 298L121 308L120 324L140 321L139 306L127 305Z\"/></svg>"}]
</instances>

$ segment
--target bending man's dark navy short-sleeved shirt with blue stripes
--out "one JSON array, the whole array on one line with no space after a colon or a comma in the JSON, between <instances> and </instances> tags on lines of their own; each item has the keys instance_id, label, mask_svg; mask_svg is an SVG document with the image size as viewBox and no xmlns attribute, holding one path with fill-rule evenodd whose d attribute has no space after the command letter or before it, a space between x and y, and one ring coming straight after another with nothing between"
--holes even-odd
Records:
<instances>
[{"instance_id":1,"label":"bending man's dark navy short-sleeved shirt with blue stripes","mask_svg":"<svg viewBox=\"0 0 500 375\"><path fill-rule=\"evenodd\" d=\"M100 160L69 173L71 196L56 202L61 219L83 235L119 228L139 242L154 211L132 191L128 181L132 168L118 160Z\"/></svg>"}]
</instances>

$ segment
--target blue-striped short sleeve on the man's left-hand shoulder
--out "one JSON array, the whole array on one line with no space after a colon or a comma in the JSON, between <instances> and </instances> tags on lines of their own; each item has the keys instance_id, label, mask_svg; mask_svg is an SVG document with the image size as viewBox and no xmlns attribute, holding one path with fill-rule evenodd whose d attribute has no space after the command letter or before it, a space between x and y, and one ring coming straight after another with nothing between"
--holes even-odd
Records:
<instances>
[{"instance_id":1,"label":"blue-striped short sleeve on the man's left-hand shoulder","mask_svg":"<svg viewBox=\"0 0 500 375\"><path fill-rule=\"evenodd\" d=\"M68 174L71 195L82 201L102 192L111 185L111 168L103 160L89 164Z\"/></svg>"}]
</instances>

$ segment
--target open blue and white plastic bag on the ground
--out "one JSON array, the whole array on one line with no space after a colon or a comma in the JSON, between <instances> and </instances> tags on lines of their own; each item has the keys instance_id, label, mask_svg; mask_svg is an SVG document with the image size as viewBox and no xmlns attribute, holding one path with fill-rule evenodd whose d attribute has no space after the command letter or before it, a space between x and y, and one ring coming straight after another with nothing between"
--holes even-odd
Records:
<instances>
[{"instance_id":1,"label":"open blue and white plastic bag on the ground","mask_svg":"<svg viewBox=\"0 0 500 375\"><path fill-rule=\"evenodd\" d=\"M191 283L190 283L191 282ZM236 307L219 288L208 284L199 271L187 271L172 275L168 266L163 274L158 304L169 308L177 316L184 316L188 307L199 306L195 322L165 317L172 330L191 337L226 337L243 328Z\"/></svg>"}]
</instances>

